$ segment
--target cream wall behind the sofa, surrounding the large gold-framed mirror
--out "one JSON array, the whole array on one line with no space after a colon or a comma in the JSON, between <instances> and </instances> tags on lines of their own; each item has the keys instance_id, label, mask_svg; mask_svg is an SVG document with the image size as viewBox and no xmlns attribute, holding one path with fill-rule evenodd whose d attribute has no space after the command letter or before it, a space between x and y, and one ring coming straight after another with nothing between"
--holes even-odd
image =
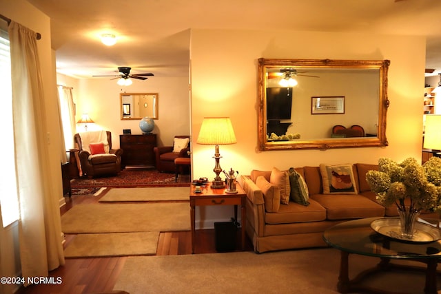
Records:
<instances>
[{"instance_id":1,"label":"cream wall behind the sofa, surrounding the large gold-framed mirror","mask_svg":"<svg viewBox=\"0 0 441 294\"><path fill-rule=\"evenodd\" d=\"M196 141L204 116L229 116L238 143L220 146L220 166L240 174L252 169L288 169L343 162L376 163L381 156L421 158L425 39L292 31L192 30L192 136ZM386 134L388 147L320 150L257 150L257 60L391 60ZM215 70L214 70L215 69ZM418 98L416 98L418 97ZM214 178L214 148L193 144L194 178ZM201 227L231 212L201 208Z\"/></svg>"}]
</instances>

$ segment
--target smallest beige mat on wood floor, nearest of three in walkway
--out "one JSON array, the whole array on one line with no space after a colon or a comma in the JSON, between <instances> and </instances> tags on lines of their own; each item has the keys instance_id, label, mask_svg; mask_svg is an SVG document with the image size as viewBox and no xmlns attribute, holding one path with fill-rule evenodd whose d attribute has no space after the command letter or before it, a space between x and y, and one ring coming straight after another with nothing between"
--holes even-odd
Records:
<instances>
[{"instance_id":1,"label":"smallest beige mat on wood floor, nearest of three in walkway","mask_svg":"<svg viewBox=\"0 0 441 294\"><path fill-rule=\"evenodd\" d=\"M154 255L159 232L76 235L64 251L65 258Z\"/></svg>"}]
</instances>

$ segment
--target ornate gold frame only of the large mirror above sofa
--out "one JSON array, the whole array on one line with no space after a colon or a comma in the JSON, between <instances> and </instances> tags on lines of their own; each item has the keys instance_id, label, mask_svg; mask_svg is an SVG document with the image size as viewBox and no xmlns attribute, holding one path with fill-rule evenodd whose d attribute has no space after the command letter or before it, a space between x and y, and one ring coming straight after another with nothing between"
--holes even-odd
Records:
<instances>
[{"instance_id":1,"label":"ornate gold frame only of the large mirror above sofa","mask_svg":"<svg viewBox=\"0 0 441 294\"><path fill-rule=\"evenodd\" d=\"M389 99L387 98L387 72L390 61L362 61L362 60L331 60L331 59L258 59L258 149L330 149L353 147L383 147L387 146L386 117ZM342 69L378 69L379 96L378 96L378 133L376 137L363 138L323 138L314 140L291 140L280 142L267 141L267 67L317 67Z\"/></svg>"}]
</instances>

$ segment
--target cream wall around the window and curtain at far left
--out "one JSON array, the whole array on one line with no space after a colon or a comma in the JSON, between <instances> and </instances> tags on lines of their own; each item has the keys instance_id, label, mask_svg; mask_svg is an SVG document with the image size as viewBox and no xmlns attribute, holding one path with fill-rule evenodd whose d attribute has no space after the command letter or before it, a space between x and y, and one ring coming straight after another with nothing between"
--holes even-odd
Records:
<instances>
[{"instance_id":1,"label":"cream wall around the window and curtain at far left","mask_svg":"<svg viewBox=\"0 0 441 294\"><path fill-rule=\"evenodd\" d=\"M40 65L41 65L41 79L43 83L43 92L45 100L45 112L48 114L45 118L48 134L39 134L48 140L49 152L53 156L50 158L50 174L45 175L48 180L51 180L51 189L57 200L63 198L63 189L61 182L61 157L59 156L59 145L61 136L57 128L58 122L51 113L57 112L57 87L56 75L54 67L54 56L50 48L50 19L45 14L31 6L30 3L24 0L0 0L0 14L12 19L25 27L39 32L41 40L37 41ZM19 274L21 271L19 263L19 240L18 227L16 224L3 229L0 226L0 276L9 276ZM14 285L0 284L0 293L12 293Z\"/></svg>"}]
</instances>

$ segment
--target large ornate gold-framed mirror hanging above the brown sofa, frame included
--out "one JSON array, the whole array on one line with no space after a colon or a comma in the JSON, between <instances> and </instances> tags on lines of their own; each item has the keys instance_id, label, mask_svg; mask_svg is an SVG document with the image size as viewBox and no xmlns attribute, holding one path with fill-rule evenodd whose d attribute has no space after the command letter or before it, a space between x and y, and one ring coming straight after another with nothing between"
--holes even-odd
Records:
<instances>
[{"instance_id":1,"label":"large ornate gold-framed mirror hanging above the brown sofa, frame included","mask_svg":"<svg viewBox=\"0 0 441 294\"><path fill-rule=\"evenodd\" d=\"M258 148L387 146L389 64L259 59Z\"/></svg>"}]
</instances>

